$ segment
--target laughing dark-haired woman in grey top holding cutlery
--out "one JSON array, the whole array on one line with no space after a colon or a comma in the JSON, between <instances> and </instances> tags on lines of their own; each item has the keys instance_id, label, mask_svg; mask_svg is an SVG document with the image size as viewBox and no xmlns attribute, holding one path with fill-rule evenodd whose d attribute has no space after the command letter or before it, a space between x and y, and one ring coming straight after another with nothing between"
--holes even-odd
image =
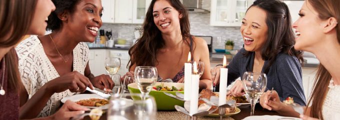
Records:
<instances>
[{"instance_id":1,"label":"laughing dark-haired woman in grey top holding cutlery","mask_svg":"<svg viewBox=\"0 0 340 120\"><path fill-rule=\"evenodd\" d=\"M233 57L228 68L227 84L241 77L245 71L263 72L267 75L267 88L274 88L280 100L290 96L296 103L305 105L302 87L302 54L293 48L294 33L291 29L290 13L285 3L278 0L256 0L247 9L242 19L240 32L244 48ZM214 83L219 81L219 68ZM216 90L219 85L216 85ZM226 86L225 86L226 87ZM244 94L242 81L236 80L228 94Z\"/></svg>"}]
</instances>

